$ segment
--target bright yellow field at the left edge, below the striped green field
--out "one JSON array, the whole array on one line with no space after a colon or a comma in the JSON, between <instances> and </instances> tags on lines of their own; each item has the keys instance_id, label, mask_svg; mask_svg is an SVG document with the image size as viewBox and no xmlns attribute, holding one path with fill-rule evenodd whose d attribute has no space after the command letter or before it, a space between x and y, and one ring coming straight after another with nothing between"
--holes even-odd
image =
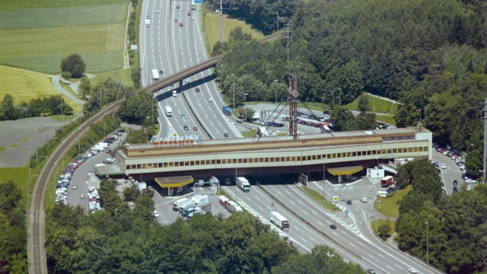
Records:
<instances>
[{"instance_id":1,"label":"bright yellow field at the left edge, below the striped green field","mask_svg":"<svg viewBox=\"0 0 487 274\"><path fill-rule=\"evenodd\" d=\"M19 68L0 65L0 100L3 100L5 94L10 93L14 97L14 105L20 102L28 102L32 98L49 97L58 95L59 91L51 84L48 75L21 70ZM79 105L64 97L67 104L78 110Z\"/></svg>"}]
</instances>

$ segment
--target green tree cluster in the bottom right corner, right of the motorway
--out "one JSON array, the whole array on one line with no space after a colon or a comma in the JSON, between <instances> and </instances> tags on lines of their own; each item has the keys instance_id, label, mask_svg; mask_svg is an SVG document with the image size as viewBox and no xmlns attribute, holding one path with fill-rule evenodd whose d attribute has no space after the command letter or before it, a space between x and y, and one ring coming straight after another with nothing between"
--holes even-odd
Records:
<instances>
[{"instance_id":1,"label":"green tree cluster in the bottom right corner, right of the motorway","mask_svg":"<svg viewBox=\"0 0 487 274\"><path fill-rule=\"evenodd\" d=\"M445 195L435 167L427 160L398 169L397 182L412 185L400 201L396 231L403 251L446 273L487 268L487 185ZM428 258L427 258L428 257Z\"/></svg>"}]
</instances>

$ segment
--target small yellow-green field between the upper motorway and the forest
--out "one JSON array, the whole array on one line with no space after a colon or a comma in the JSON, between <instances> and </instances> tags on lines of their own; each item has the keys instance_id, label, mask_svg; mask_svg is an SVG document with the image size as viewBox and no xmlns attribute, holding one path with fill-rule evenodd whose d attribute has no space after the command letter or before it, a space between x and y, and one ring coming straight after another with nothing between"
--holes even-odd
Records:
<instances>
[{"instance_id":1,"label":"small yellow-green field between the upper motorway and the forest","mask_svg":"<svg viewBox=\"0 0 487 274\"><path fill-rule=\"evenodd\" d=\"M211 52L215 43L220 41L220 15L217 13L205 13L203 22L204 35L206 36L205 43L207 43L206 49ZM261 32L252 29L251 25L223 15L223 41L228 41L227 38L230 35L230 31L237 26L242 28L243 33L250 32L252 39L259 40L264 37Z\"/></svg>"}]
</instances>

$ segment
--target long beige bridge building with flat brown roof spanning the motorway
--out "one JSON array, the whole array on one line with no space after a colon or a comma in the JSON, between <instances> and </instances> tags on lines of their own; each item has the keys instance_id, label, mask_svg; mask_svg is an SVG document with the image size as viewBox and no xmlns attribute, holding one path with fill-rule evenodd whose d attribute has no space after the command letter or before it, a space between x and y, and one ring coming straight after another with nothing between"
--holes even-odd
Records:
<instances>
[{"instance_id":1,"label":"long beige bridge building with flat brown roof spanning the motorway","mask_svg":"<svg viewBox=\"0 0 487 274\"><path fill-rule=\"evenodd\" d=\"M373 167L395 158L432 157L432 133L417 128L346 131L258 139L175 140L126 144L117 163L95 166L98 176L234 176L319 172L326 168Z\"/></svg>"}]
</instances>

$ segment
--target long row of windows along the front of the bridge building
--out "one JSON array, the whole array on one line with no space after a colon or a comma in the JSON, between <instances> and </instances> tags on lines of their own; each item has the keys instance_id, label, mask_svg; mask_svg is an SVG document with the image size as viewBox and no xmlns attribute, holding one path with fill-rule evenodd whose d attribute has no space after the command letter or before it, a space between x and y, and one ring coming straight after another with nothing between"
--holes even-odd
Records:
<instances>
[{"instance_id":1,"label":"long row of windows along the front of the bridge building","mask_svg":"<svg viewBox=\"0 0 487 274\"><path fill-rule=\"evenodd\" d=\"M393 148L379 150L362 150L352 152L338 152L328 154L316 154L307 156L289 156L289 157L259 157L259 158L228 158L228 159L208 159L208 160L191 160L191 161L171 161L159 163L142 163L127 164L126 169L146 169L146 168L164 168L179 166L198 166L198 165L215 165L215 164L234 164L234 163L272 163L272 162L301 162L321 159L350 158L368 155L397 154L427 152L428 147L410 147L410 148Z\"/></svg>"}]
</instances>

